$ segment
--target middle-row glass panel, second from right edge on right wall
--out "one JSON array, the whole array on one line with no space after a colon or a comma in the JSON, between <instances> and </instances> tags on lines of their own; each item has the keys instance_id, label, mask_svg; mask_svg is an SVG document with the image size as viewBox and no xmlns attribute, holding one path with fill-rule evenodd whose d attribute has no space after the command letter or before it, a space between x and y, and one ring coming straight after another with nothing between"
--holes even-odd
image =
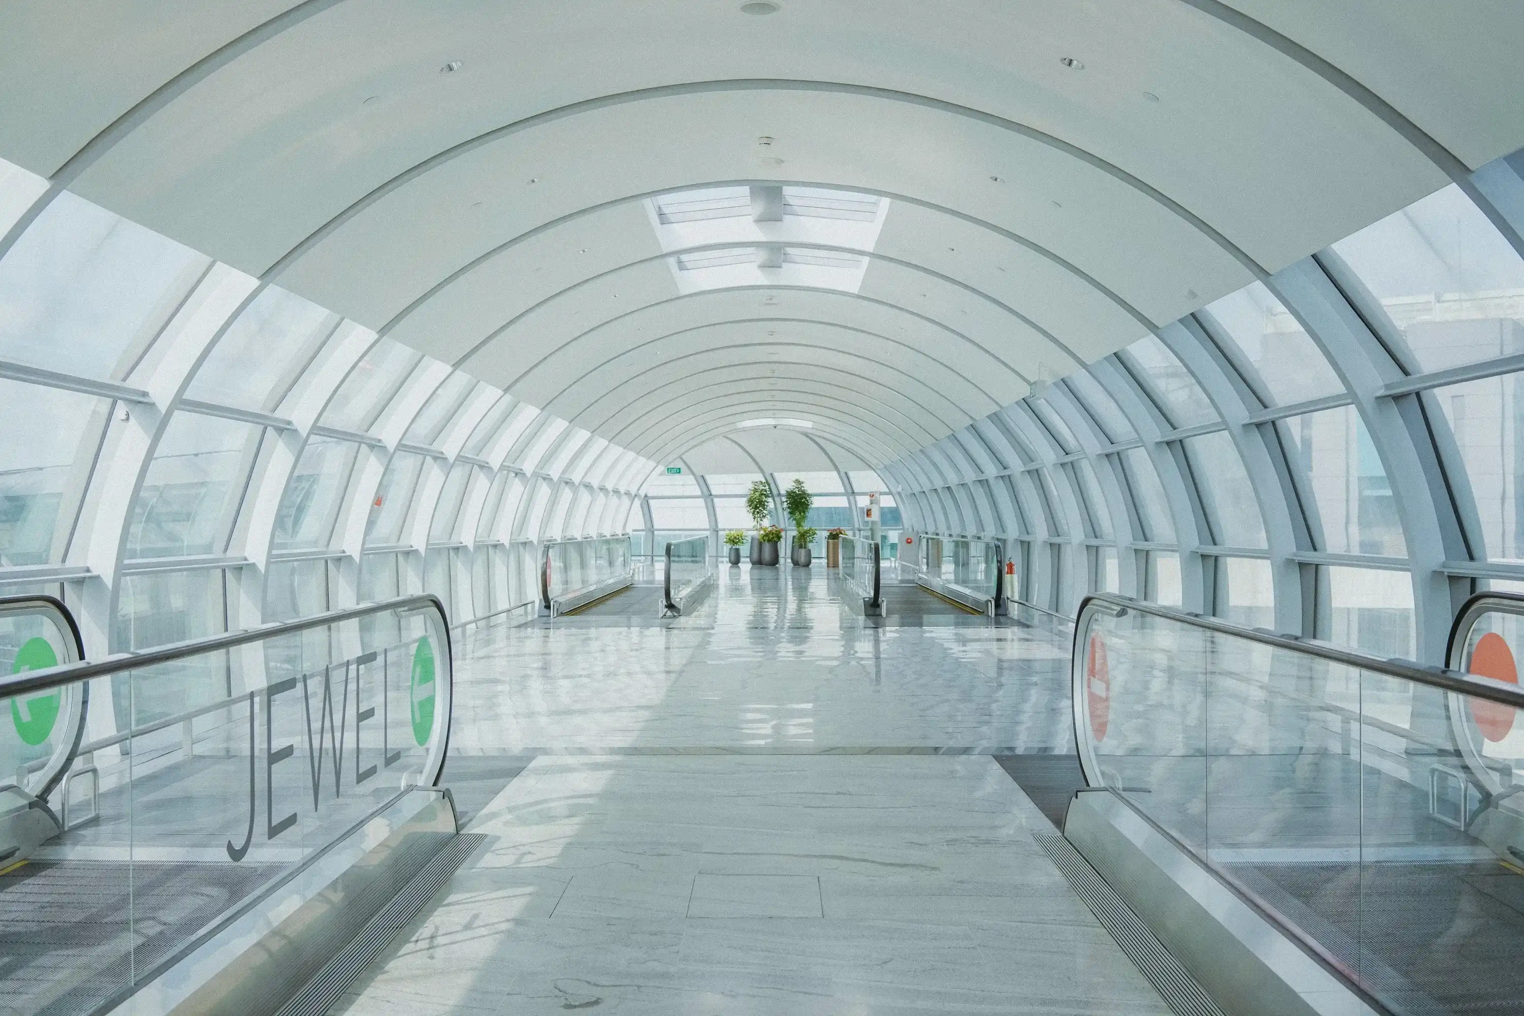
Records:
<instances>
[{"instance_id":1,"label":"middle-row glass panel, second from right edge on right wall","mask_svg":"<svg viewBox=\"0 0 1524 1016\"><path fill-rule=\"evenodd\" d=\"M1314 535L1321 535L1320 550L1391 558L1408 553L1391 481L1353 407L1294 416L1283 420L1282 433L1294 445L1292 462L1315 501L1308 521Z\"/></svg>"}]
</instances>

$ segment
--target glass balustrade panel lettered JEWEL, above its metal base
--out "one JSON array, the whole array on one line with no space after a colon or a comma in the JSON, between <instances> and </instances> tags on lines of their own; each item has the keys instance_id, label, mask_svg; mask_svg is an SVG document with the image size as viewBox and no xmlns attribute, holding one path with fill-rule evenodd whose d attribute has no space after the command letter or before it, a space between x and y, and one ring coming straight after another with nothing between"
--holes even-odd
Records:
<instances>
[{"instance_id":1,"label":"glass balustrade panel lettered JEWEL, above its metal base","mask_svg":"<svg viewBox=\"0 0 1524 1016\"><path fill-rule=\"evenodd\" d=\"M110 1008L433 786L447 625L434 597L407 597L67 663L56 618L0 612L18 672L0 682L8 768L46 789L34 763L67 746L53 807L0 818L0 1011Z\"/></svg>"}]
</instances>

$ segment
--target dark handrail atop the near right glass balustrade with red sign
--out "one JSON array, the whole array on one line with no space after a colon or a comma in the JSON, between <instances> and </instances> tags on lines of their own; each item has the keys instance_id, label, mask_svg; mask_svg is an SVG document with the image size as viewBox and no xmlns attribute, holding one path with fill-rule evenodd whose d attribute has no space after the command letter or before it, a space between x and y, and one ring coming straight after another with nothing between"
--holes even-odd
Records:
<instances>
[{"instance_id":1,"label":"dark handrail atop the near right glass balustrade with red sign","mask_svg":"<svg viewBox=\"0 0 1524 1016\"><path fill-rule=\"evenodd\" d=\"M1494 593L1483 596L1501 596L1501 594ZM1472 597L1472 600L1475 599L1478 597ZM1519 599L1524 600L1524 597ZM1332 643L1320 641L1315 638L1303 638L1300 635L1279 635L1263 628L1245 628L1242 625L1224 621L1216 617L1205 617L1202 614L1195 614L1190 611L1181 611L1170 606L1160 606L1158 603L1134 600L1132 597L1119 596L1116 593L1091 593L1081 602L1079 612L1076 614L1074 618L1074 649L1071 661L1077 661L1081 658L1081 638L1087 629L1085 621L1088 620L1087 617L1088 614L1106 612L1111 614L1113 617L1122 617L1128 611L1151 614L1154 617L1163 617L1166 620L1178 621L1181 625L1187 625L1192 628L1201 628L1205 631L1221 632L1224 635L1233 635L1236 638L1254 641L1262 646L1271 646L1276 649L1285 649L1289 652L1298 652L1309 657L1317 657L1320 660L1327 660L1330 663L1343 664L1346 667L1356 667L1359 670L1370 670L1373 673L1381 673L1402 681L1413 681L1414 684L1423 684L1431 689L1455 692L1458 695L1469 695L1474 698L1487 699L1490 702L1501 702L1504 705L1524 708L1524 689L1519 689L1515 684L1494 681L1492 678L1483 678L1474 673L1460 673L1457 670L1448 670L1445 667L1431 667L1422 663L1414 663L1411 660L1382 658L1372 653L1359 652L1356 649L1346 649L1344 646L1335 646ZM1524 612L1524 609L1518 612ZM1077 663L1074 666L1077 666Z\"/></svg>"}]
</instances>

